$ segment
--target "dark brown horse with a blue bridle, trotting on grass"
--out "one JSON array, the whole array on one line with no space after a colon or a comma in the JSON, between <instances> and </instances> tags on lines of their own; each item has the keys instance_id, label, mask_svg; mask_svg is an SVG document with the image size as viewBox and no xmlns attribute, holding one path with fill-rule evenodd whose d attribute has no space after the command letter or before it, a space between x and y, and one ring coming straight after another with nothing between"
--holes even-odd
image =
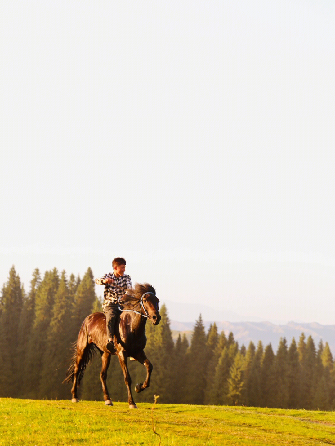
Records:
<instances>
[{"instance_id":1,"label":"dark brown horse with a blue bridle, trotting on grass","mask_svg":"<svg viewBox=\"0 0 335 446\"><path fill-rule=\"evenodd\" d=\"M66 372L64 382L73 382L71 388L72 402L79 402L77 386L83 377L87 365L91 362L92 354L96 348L102 359L100 381L103 390L105 405L113 405L106 386L107 370L111 355L119 358L120 366L124 374L124 382L128 389L128 405L130 409L137 409L132 398L130 386L132 384L127 366L127 357L136 359L146 368L146 378L143 383L136 384L135 391L142 392L149 387L153 365L147 359L144 347L146 345L145 324L147 319L153 325L159 324L161 316L158 311L159 299L153 286L137 284L134 289L128 289L119 305L123 306L122 312L116 318L114 350L106 349L107 332L106 318L103 313L93 313L85 318L80 330L77 342L74 346L74 355L69 369ZM120 306L119 306L120 308ZM121 308L120 308L121 310Z\"/></svg>"}]
</instances>

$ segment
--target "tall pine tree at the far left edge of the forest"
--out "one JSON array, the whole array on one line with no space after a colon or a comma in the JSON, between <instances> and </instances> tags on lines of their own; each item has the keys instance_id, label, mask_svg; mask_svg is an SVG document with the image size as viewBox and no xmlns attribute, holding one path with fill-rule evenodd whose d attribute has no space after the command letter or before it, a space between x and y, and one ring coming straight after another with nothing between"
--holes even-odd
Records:
<instances>
[{"instance_id":1,"label":"tall pine tree at the far left edge of the forest","mask_svg":"<svg viewBox=\"0 0 335 446\"><path fill-rule=\"evenodd\" d=\"M18 396L16 382L19 379L17 370L17 341L25 336L19 326L19 318L24 300L24 289L14 265L9 271L7 283L2 288L0 319L0 396Z\"/></svg>"}]
</instances>

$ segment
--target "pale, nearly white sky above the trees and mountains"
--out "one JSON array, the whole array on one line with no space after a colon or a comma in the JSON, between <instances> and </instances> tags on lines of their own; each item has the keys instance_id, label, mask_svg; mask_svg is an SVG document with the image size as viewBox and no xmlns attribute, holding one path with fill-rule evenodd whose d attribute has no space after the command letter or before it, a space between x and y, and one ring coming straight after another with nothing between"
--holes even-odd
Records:
<instances>
[{"instance_id":1,"label":"pale, nearly white sky above the trees and mountains","mask_svg":"<svg viewBox=\"0 0 335 446\"><path fill-rule=\"evenodd\" d=\"M122 256L172 320L335 324L332 1L12 0L0 21L1 287Z\"/></svg>"}]
</instances>

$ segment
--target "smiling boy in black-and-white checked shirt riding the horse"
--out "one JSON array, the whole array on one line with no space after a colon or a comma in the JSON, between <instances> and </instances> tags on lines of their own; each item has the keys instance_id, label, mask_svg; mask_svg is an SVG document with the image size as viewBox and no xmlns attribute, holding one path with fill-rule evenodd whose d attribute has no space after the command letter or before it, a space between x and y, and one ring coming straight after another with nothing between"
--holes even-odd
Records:
<instances>
[{"instance_id":1,"label":"smiling boy in black-and-white checked shirt riding the horse","mask_svg":"<svg viewBox=\"0 0 335 446\"><path fill-rule=\"evenodd\" d=\"M106 316L106 328L108 342L106 348L109 351L114 347L115 320L120 310L117 308L117 300L125 294L125 290L132 288L130 276L124 274L126 261L122 257L116 257L112 261L113 273L107 273L100 279L95 279L97 285L105 285L102 304L103 314Z\"/></svg>"}]
</instances>

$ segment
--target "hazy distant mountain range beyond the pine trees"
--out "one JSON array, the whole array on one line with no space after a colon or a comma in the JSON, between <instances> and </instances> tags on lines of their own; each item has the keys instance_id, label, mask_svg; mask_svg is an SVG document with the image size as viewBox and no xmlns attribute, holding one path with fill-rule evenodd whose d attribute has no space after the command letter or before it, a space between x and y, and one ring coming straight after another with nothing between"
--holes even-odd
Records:
<instances>
[{"instance_id":1,"label":"hazy distant mountain range beyond the pine trees","mask_svg":"<svg viewBox=\"0 0 335 446\"><path fill-rule=\"evenodd\" d=\"M214 321L204 321L205 330L207 332L209 326ZM250 341L257 346L258 341L262 341L263 347L271 343L273 352L276 353L280 338L286 338L288 347L292 338L296 343L299 342L299 337L302 333L305 334L306 339L309 335L312 336L315 344L315 349L318 349L318 343L322 339L323 344L328 343L332 354L335 353L335 325L321 325L316 322L298 323L289 322L284 325L276 325L271 322L215 322L218 327L218 332L224 331L227 336L230 331L234 335L234 339L238 341L239 345L248 347ZM185 333L190 342L191 333L195 322L177 322L170 321L170 329L174 340L178 338L178 334Z\"/></svg>"}]
</instances>

